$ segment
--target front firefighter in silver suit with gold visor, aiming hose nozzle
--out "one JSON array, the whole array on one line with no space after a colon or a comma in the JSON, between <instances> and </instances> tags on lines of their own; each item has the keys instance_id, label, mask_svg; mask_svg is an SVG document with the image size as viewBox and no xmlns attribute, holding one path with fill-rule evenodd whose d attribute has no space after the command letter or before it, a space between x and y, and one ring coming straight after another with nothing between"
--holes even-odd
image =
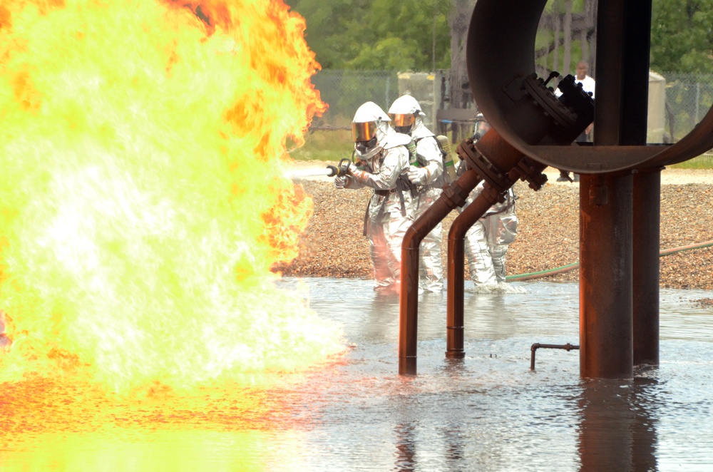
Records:
<instances>
[{"instance_id":1,"label":"front firefighter in silver suit with gold visor, aiming hose nozzle","mask_svg":"<svg viewBox=\"0 0 713 472\"><path fill-rule=\"evenodd\" d=\"M337 188L370 187L373 193L364 217L369 237L374 290L399 293L401 242L413 222L411 189L405 178L411 138L389 125L389 116L374 102L354 114L354 163L348 175L334 178ZM402 176L404 175L404 176Z\"/></svg>"}]
</instances>

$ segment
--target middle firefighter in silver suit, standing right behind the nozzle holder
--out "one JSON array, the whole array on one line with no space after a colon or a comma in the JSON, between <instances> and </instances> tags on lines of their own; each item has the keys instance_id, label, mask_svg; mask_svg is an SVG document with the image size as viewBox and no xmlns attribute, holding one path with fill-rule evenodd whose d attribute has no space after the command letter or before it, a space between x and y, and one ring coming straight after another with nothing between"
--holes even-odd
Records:
<instances>
[{"instance_id":1,"label":"middle firefighter in silver suit, standing right behind the nozzle holder","mask_svg":"<svg viewBox=\"0 0 713 472\"><path fill-rule=\"evenodd\" d=\"M414 220L434 204L443 191L443 154L434 133L426 128L421 106L416 98L402 95L389 108L394 129L411 136L410 165L407 176L416 186ZM419 287L428 292L443 289L443 260L441 259L441 222L421 241Z\"/></svg>"}]
</instances>

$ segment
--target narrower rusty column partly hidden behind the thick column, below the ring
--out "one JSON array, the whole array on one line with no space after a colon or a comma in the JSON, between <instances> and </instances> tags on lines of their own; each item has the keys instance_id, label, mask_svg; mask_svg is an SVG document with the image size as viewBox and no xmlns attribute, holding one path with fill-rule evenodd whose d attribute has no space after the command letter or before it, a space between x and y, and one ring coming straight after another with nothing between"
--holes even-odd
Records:
<instances>
[{"instance_id":1,"label":"narrower rusty column partly hidden behind the thick column, below the ring","mask_svg":"<svg viewBox=\"0 0 713 472\"><path fill-rule=\"evenodd\" d=\"M634 174L634 365L659 364L661 170Z\"/></svg>"}]
</instances>

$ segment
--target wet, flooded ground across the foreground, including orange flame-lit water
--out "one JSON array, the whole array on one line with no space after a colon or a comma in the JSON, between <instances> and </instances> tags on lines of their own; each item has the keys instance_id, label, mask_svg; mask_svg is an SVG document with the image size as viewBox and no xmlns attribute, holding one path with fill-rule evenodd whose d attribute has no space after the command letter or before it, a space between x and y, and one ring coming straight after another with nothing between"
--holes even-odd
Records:
<instances>
[{"instance_id":1,"label":"wet, flooded ground across the foreground, including orange flame-lit water","mask_svg":"<svg viewBox=\"0 0 713 472\"><path fill-rule=\"evenodd\" d=\"M444 356L446 296L419 304L419 375L399 376L396 297L358 279L284 279L344 327L342 359L210 402L99 405L51 426L56 392L5 418L0 471L713 470L712 292L661 292L661 365L632 381L579 378L578 285L466 292L466 359ZM229 391L230 390L230 391ZM13 401L7 391L3 400ZM105 402L106 403L106 402ZM159 402L160 403L160 402ZM91 410L88 405L87 409ZM48 426L49 424L49 426ZM11 431L11 434L8 432Z\"/></svg>"}]
</instances>

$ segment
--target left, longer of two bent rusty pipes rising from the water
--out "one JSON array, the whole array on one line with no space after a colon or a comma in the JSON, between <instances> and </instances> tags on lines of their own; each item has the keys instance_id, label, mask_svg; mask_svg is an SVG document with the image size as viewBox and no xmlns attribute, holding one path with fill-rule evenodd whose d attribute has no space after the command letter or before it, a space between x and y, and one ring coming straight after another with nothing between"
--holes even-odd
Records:
<instances>
[{"instance_id":1,"label":"left, longer of two bent rusty pipes rising from the water","mask_svg":"<svg viewBox=\"0 0 713 472\"><path fill-rule=\"evenodd\" d=\"M458 145L458 153L461 153ZM463 206L468 193L481 181L475 170L468 170L443 189L441 197L414 221L401 243L401 287L399 298L399 374L416 374L416 341L419 318L419 247L424 237L453 208Z\"/></svg>"}]
</instances>

